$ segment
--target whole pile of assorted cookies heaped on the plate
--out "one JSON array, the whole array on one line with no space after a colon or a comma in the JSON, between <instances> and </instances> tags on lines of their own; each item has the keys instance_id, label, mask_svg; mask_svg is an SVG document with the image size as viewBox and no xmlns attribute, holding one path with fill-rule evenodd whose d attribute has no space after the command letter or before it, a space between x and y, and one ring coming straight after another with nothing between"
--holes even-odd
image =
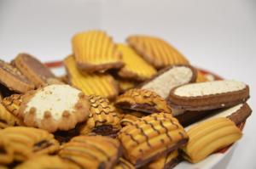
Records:
<instances>
[{"instance_id":1,"label":"whole pile of assorted cookies heaped on the plate","mask_svg":"<svg viewBox=\"0 0 256 169\"><path fill-rule=\"evenodd\" d=\"M243 82L208 78L159 37L72 39L55 76L30 54L0 60L0 168L172 168L234 144L252 110Z\"/></svg>"}]
</instances>

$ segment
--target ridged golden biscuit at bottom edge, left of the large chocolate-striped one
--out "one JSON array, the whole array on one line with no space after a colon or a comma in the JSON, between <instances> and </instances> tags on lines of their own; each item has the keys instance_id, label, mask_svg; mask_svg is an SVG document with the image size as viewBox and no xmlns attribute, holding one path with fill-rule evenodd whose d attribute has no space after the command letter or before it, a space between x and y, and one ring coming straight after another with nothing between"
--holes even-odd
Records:
<instances>
[{"instance_id":1,"label":"ridged golden biscuit at bottom edge, left of the large chocolate-striped one","mask_svg":"<svg viewBox=\"0 0 256 169\"><path fill-rule=\"evenodd\" d=\"M63 144L59 155L81 168L112 168L120 155L118 140L103 136L78 136Z\"/></svg>"}]
</instances>

